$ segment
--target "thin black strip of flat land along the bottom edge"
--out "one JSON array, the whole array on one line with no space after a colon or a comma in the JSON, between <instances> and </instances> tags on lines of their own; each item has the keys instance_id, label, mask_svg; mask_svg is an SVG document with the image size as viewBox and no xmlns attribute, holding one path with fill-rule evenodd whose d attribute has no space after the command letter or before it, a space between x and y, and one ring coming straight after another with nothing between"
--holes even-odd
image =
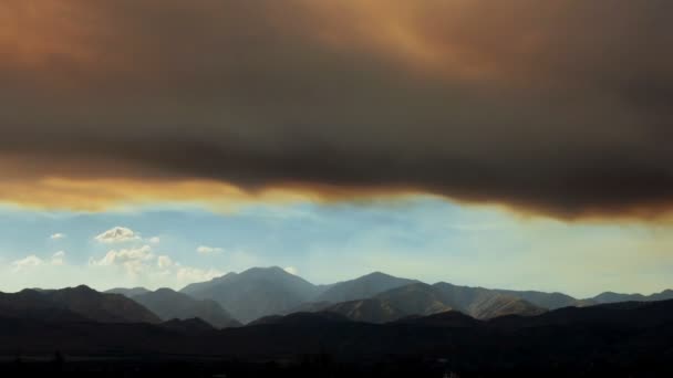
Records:
<instances>
[{"instance_id":1,"label":"thin black strip of flat land along the bottom edge","mask_svg":"<svg viewBox=\"0 0 673 378\"><path fill-rule=\"evenodd\" d=\"M412 356L389 356L372 364L338 363L329 355L304 355L297 360L244 361L149 357L136 359L23 360L0 363L2 377L671 377L673 369L642 365L597 364L576 369L562 365L509 367L497 370L463 367ZM459 364L458 364L459 365Z\"/></svg>"}]
</instances>

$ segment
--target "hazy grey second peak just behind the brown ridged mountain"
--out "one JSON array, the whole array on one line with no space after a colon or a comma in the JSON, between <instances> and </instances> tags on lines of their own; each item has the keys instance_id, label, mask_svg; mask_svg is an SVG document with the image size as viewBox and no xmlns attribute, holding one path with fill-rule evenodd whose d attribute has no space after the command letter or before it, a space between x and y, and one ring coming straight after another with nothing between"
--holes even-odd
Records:
<instances>
[{"instance_id":1,"label":"hazy grey second peak just behind the brown ridged mountain","mask_svg":"<svg viewBox=\"0 0 673 378\"><path fill-rule=\"evenodd\" d=\"M398 279L385 273L374 272L355 280L335 283L314 301L339 303L365 300L391 288L417 282L416 280Z\"/></svg>"}]
</instances>

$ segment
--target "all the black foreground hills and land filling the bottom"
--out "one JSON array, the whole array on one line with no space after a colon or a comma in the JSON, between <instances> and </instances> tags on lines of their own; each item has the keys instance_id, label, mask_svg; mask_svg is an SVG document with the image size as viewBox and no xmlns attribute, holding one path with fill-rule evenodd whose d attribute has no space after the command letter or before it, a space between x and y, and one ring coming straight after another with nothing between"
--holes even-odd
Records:
<instances>
[{"instance_id":1,"label":"all the black foreground hills and land filling the bottom","mask_svg":"<svg viewBox=\"0 0 673 378\"><path fill-rule=\"evenodd\" d=\"M222 330L4 317L0 355L0 377L673 377L673 301L488 322L298 313Z\"/></svg>"}]
</instances>

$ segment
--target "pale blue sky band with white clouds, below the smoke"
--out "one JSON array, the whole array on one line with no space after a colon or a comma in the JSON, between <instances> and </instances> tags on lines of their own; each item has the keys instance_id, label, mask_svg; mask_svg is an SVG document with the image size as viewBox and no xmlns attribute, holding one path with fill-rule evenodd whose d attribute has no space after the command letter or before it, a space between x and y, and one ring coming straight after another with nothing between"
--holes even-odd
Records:
<instances>
[{"instance_id":1,"label":"pale blue sky band with white clouds, below the smoke","mask_svg":"<svg viewBox=\"0 0 673 378\"><path fill-rule=\"evenodd\" d=\"M96 239L116 227L132 234ZM577 296L650 293L673 287L669 231L522 218L433 197L259 202L227 212L187 204L87 213L3 207L0 290L80 283L179 288L278 265L314 283L384 271L431 283Z\"/></svg>"}]
</instances>

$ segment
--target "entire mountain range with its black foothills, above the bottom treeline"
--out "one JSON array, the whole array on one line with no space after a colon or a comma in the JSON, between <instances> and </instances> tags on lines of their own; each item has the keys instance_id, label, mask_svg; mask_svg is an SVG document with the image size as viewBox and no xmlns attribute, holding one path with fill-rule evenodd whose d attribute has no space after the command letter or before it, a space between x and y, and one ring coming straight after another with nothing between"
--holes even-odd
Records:
<instances>
[{"instance_id":1,"label":"entire mountain range with its black foothills, above the bottom treeline","mask_svg":"<svg viewBox=\"0 0 673 378\"><path fill-rule=\"evenodd\" d=\"M428 377L442 376L439 368L473 369L467 376L496 370L540 376L549 369L556 376L603 376L614 375L615 366L621 376L671 376L671 294L577 300L562 293L426 284L380 272L313 285L279 267L229 273L180 292L23 290L0 293L0 372L2 358L58 350L81 356L77 360L94 358L86 365L91 369L101 358L126 369L122 361L138 356L142 364L147 356L196 359L197 369L231 361L229 367L217 363L207 376L241 364L251 364L247 376L259 376L257 364L266 368L269 361L321 369L354 364L360 376L376 376L362 369L391 364L428 369ZM311 369L306 376L319 376ZM424 375L412 370L405 376Z\"/></svg>"}]
</instances>

